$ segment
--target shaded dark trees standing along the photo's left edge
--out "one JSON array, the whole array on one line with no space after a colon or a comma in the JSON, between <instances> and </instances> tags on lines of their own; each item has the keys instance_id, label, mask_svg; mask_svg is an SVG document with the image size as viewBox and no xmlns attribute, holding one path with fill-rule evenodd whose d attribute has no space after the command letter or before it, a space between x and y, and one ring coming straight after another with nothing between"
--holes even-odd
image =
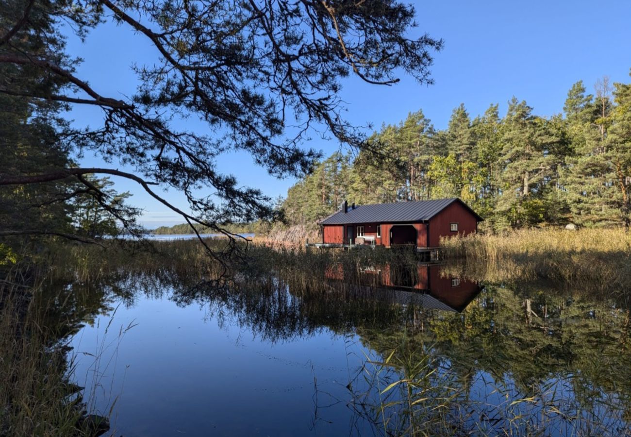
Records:
<instances>
[{"instance_id":1,"label":"shaded dark trees standing along the photo's left edge","mask_svg":"<svg viewBox=\"0 0 631 437\"><path fill-rule=\"evenodd\" d=\"M122 227L132 232L138 229L140 213L127 204L129 194L117 193L109 179L67 172L102 133L83 135L64 119L69 105L59 96L71 85L67 75L76 63L64 54L65 39L54 30L64 21L54 11L65 7L30 6L25 10L16 2L3 2L0 13L6 37L0 44L0 265L11 256L10 248L18 251L36 237L93 241L119 234ZM73 9L73 14L81 12ZM13 21L15 16L22 18ZM4 32L9 28L17 33ZM11 61L16 56L56 64L65 73L51 75L36 64ZM58 177L60 173L68 176Z\"/></svg>"}]
</instances>

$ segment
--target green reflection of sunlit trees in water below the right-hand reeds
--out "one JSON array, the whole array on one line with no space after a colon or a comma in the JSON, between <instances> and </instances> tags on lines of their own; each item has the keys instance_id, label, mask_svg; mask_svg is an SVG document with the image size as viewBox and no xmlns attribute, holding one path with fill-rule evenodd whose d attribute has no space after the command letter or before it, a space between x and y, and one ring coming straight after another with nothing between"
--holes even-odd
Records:
<instances>
[{"instance_id":1,"label":"green reflection of sunlit trees in water below the right-hand reeds","mask_svg":"<svg viewBox=\"0 0 631 437\"><path fill-rule=\"evenodd\" d=\"M461 381L461 402L477 398L485 405L488 393L505 395L505 402L496 397L484 414L469 418L487 417L487 428L587 434L625 429L631 405L628 311L546 290L530 297L537 316L526 316L519 293L488 285L462 314L432 314L399 340L431 343L436 365ZM391 333L370 327L359 332L382 354L398 346ZM512 404L520 399L526 400Z\"/></svg>"}]
</instances>

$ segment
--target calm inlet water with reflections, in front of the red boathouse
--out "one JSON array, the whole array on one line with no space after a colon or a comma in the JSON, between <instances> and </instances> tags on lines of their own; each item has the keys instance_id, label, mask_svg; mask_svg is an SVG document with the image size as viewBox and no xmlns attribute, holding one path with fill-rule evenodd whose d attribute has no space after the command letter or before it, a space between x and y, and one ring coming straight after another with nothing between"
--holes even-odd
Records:
<instances>
[{"instance_id":1,"label":"calm inlet water with reflections, in front of the red boathouse","mask_svg":"<svg viewBox=\"0 0 631 437\"><path fill-rule=\"evenodd\" d=\"M93 411L111 410L115 436L396 434L405 393L384 389L406 371L415 414L442 409L437 426L453 434L629 434L620 301L440 266L365 268L343 290L348 275L328 272L324 294L191 294L154 277L95 289L99 314L71 341L74 378Z\"/></svg>"}]
</instances>

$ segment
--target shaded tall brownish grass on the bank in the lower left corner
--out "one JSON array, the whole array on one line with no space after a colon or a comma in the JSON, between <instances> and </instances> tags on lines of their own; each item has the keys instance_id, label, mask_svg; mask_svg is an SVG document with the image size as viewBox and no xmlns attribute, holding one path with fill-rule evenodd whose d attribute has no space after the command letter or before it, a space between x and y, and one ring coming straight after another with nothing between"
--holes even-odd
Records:
<instances>
[{"instance_id":1,"label":"shaded tall brownish grass on the bank in the lower left corner","mask_svg":"<svg viewBox=\"0 0 631 437\"><path fill-rule=\"evenodd\" d=\"M71 436L81 419L66 351L25 287L0 287L0 435Z\"/></svg>"}]
</instances>

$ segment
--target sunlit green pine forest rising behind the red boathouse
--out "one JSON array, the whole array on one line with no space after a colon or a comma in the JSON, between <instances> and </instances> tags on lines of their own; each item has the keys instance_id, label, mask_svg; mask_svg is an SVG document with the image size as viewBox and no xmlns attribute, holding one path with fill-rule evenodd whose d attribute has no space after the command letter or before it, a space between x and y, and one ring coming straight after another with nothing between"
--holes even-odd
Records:
<instances>
[{"instance_id":1,"label":"sunlit green pine forest rising behind the red boathouse","mask_svg":"<svg viewBox=\"0 0 631 437\"><path fill-rule=\"evenodd\" d=\"M594 93L570 88L563 114L537 116L513 97L471 118L454 109L447 129L422 111L384 125L357 156L333 153L289 189L290 224L311 224L358 204L459 197L489 230L630 224L631 85L603 78Z\"/></svg>"}]
</instances>

